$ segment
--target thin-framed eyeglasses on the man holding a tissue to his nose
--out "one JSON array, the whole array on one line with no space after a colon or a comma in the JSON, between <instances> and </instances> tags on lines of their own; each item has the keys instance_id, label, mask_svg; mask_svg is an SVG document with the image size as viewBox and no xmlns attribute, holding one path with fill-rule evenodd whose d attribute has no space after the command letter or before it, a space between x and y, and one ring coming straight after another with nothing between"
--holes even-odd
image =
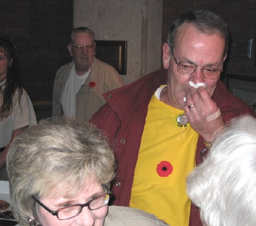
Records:
<instances>
[{"instance_id":1,"label":"thin-framed eyeglasses on the man holding a tissue to his nose","mask_svg":"<svg viewBox=\"0 0 256 226\"><path fill-rule=\"evenodd\" d=\"M171 50L172 51L172 50ZM172 52L172 56L174 56L174 52ZM211 66L204 66L203 68L198 68L198 65L190 64L188 62L177 62L174 56L175 63L177 64L177 71L184 76L189 76L195 70L203 70L203 75L207 79L218 79L220 78L220 74L222 69L212 68ZM223 65L223 63L222 63Z\"/></svg>"}]
</instances>

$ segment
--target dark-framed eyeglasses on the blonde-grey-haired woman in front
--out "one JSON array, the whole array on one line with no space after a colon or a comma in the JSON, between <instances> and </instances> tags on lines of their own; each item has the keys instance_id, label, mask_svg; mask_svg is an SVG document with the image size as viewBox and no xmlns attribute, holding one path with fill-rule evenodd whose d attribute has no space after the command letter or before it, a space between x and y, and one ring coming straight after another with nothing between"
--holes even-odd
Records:
<instances>
[{"instance_id":1,"label":"dark-framed eyeglasses on the blonde-grey-haired woman in front","mask_svg":"<svg viewBox=\"0 0 256 226\"><path fill-rule=\"evenodd\" d=\"M105 187L106 187L106 185L104 185L104 188ZM46 205L44 205L42 202L40 202L40 200L38 198L36 198L34 195L32 195L32 198L38 204L40 204L40 206L42 206L48 212L50 212L53 216L57 216L57 218L59 220L68 220L68 219L71 219L71 218L79 215L80 212L82 211L82 208L84 208L86 206L88 206L89 210L98 210L99 208L106 206L106 204L108 204L108 202L109 202L110 195L112 194L108 188L106 190L108 190L109 192L102 194L102 195L98 195L98 196L90 199L88 202L86 202L84 204L75 204L72 206L66 206L66 207L60 208L59 210L56 210L56 211L50 210Z\"/></svg>"}]
</instances>

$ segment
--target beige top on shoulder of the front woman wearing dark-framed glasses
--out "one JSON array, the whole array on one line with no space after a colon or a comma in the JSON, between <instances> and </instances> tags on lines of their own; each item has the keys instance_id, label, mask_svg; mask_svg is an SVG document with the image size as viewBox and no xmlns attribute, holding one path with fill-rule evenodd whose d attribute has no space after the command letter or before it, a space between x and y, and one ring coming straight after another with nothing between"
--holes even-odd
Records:
<instances>
[{"instance_id":1,"label":"beige top on shoulder of the front woman wearing dark-framed glasses","mask_svg":"<svg viewBox=\"0 0 256 226\"><path fill-rule=\"evenodd\" d=\"M130 207L109 206L104 226L164 226L156 216Z\"/></svg>"}]
</instances>

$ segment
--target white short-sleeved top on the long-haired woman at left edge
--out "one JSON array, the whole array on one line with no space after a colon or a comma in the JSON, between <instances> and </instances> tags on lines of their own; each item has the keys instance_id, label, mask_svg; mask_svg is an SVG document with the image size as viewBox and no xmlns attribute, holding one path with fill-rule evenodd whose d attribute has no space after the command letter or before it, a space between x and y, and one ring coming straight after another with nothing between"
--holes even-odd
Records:
<instances>
[{"instance_id":1,"label":"white short-sleeved top on the long-haired woman at left edge","mask_svg":"<svg viewBox=\"0 0 256 226\"><path fill-rule=\"evenodd\" d=\"M26 90L22 90L23 93L22 97L20 98L20 106L18 100L18 90L16 90L14 94L13 111L7 118L0 121L0 147L6 147L6 145L9 144L15 129L37 123L35 111L30 101L30 97L28 97ZM0 93L0 95L2 94ZM0 97L0 99L2 100L2 97Z\"/></svg>"}]
</instances>

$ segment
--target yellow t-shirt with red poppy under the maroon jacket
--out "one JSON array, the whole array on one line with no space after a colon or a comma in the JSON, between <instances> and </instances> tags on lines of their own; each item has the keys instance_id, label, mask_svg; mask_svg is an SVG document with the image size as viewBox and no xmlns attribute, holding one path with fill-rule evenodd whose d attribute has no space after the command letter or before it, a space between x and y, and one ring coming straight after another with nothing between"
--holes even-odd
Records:
<instances>
[{"instance_id":1,"label":"yellow t-shirt with red poppy under the maroon jacket","mask_svg":"<svg viewBox=\"0 0 256 226\"><path fill-rule=\"evenodd\" d=\"M152 96L135 168L130 207L172 226L188 225L190 200L185 178L195 167L199 134L184 111Z\"/></svg>"}]
</instances>

